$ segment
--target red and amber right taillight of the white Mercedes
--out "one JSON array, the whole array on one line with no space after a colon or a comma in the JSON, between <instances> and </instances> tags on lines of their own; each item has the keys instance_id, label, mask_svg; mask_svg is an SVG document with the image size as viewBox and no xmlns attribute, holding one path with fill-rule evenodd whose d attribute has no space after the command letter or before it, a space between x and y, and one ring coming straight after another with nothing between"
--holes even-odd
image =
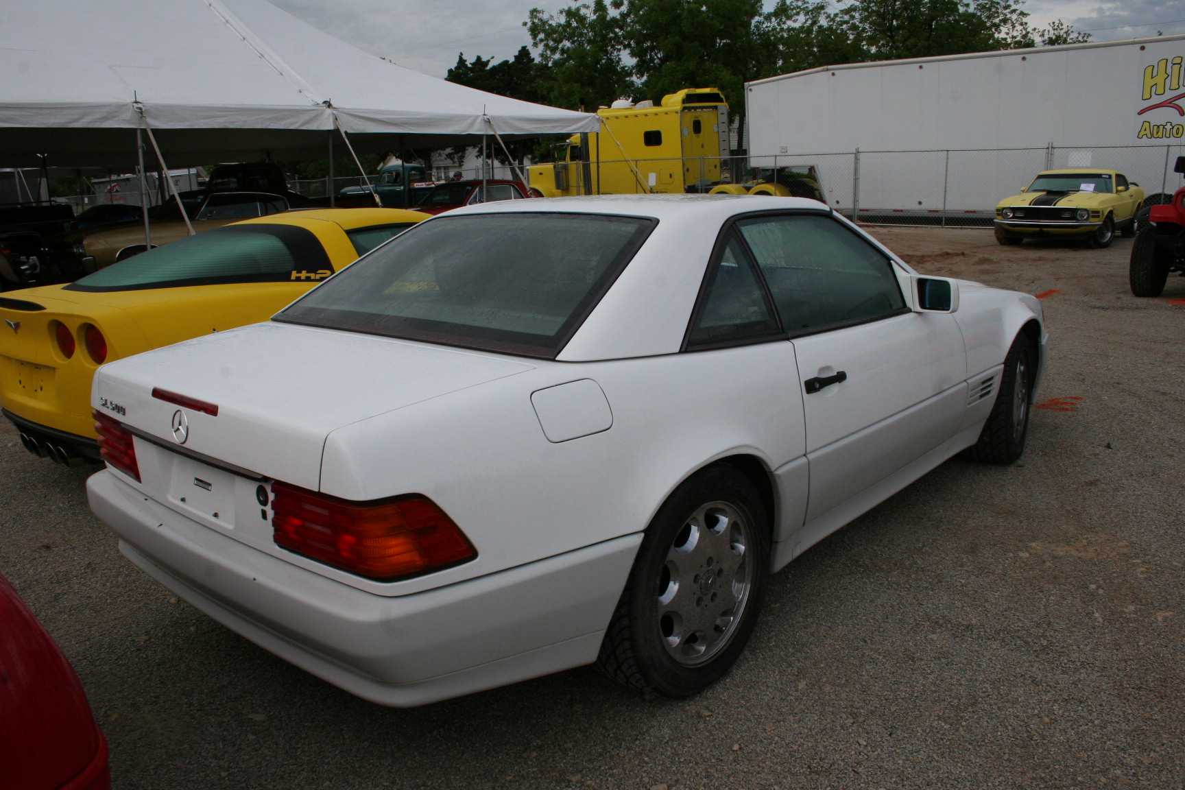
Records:
<instances>
[{"instance_id":1,"label":"red and amber right taillight of the white Mercedes","mask_svg":"<svg viewBox=\"0 0 1185 790\"><path fill-rule=\"evenodd\" d=\"M460 527L424 496L350 502L284 483L274 483L271 495L277 545L351 573L392 580L478 555Z\"/></svg>"}]
</instances>

